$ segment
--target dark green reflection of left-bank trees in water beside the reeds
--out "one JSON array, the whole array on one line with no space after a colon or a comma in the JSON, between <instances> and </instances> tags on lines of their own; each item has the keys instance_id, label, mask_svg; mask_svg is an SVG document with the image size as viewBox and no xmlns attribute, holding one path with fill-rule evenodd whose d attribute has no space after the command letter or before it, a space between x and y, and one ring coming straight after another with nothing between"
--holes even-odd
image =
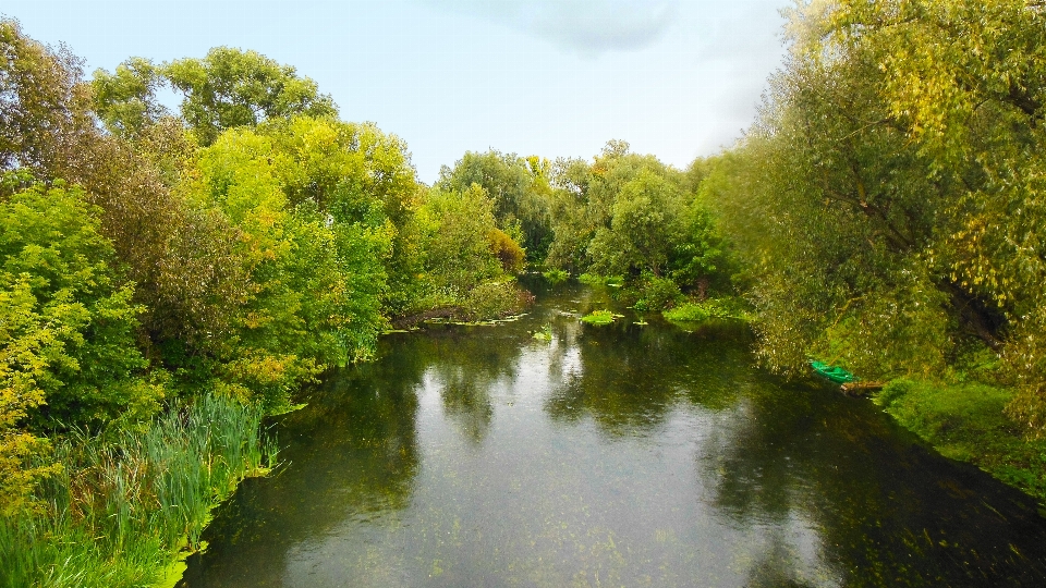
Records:
<instances>
[{"instance_id":1,"label":"dark green reflection of left-bank trees in water beside the reeds","mask_svg":"<svg viewBox=\"0 0 1046 588\"><path fill-rule=\"evenodd\" d=\"M285 466L246 480L216 511L204 537L210 549L190 558L182 586L279 586L288 553L304 541L409 505L418 469L414 390L429 358L411 353L409 340L390 346L281 418Z\"/></svg>"}]
</instances>

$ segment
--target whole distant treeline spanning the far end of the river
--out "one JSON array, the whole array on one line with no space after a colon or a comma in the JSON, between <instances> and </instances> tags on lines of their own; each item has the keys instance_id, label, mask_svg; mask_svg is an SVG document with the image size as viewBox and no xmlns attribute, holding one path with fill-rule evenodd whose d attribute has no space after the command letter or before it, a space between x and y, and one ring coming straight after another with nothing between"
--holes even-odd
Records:
<instances>
[{"instance_id":1,"label":"whole distant treeline spanning the far end of the river","mask_svg":"<svg viewBox=\"0 0 1046 588\"><path fill-rule=\"evenodd\" d=\"M592 160L469 152L437 186L482 187L502 231L546 272L622 286L641 311L730 295L742 279L701 192L707 162L681 171L611 140Z\"/></svg>"}]
</instances>

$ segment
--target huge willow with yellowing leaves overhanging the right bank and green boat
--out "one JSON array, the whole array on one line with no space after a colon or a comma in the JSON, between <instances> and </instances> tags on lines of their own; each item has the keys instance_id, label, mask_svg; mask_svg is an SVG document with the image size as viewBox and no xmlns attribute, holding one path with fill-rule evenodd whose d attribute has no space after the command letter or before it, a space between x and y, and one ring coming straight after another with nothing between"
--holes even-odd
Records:
<instances>
[{"instance_id":1,"label":"huge willow with yellowing leaves overhanging the right bank and green boat","mask_svg":"<svg viewBox=\"0 0 1046 588\"><path fill-rule=\"evenodd\" d=\"M1046 422L1044 25L1017 0L790 14L759 123L703 188L757 268L770 366L939 373L980 345Z\"/></svg>"}]
</instances>

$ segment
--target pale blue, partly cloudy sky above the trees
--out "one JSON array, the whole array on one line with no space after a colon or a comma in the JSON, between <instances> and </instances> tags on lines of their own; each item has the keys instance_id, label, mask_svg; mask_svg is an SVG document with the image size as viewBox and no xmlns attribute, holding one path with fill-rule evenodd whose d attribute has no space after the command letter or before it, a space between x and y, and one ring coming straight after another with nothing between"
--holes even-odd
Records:
<instances>
[{"instance_id":1,"label":"pale blue, partly cloudy sky above the trees","mask_svg":"<svg viewBox=\"0 0 1046 588\"><path fill-rule=\"evenodd\" d=\"M685 168L754 120L790 0L4 0L89 76L130 57L253 49L341 117L403 138L418 177L465 151L592 158L610 139ZM173 96L170 99L174 99Z\"/></svg>"}]
</instances>

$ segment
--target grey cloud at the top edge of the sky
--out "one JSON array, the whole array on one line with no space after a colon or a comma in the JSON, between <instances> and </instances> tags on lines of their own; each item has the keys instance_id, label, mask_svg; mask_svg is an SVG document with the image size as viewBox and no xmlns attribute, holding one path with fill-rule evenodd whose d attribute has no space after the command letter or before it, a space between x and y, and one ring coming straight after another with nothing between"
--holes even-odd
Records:
<instances>
[{"instance_id":1,"label":"grey cloud at the top edge of the sky","mask_svg":"<svg viewBox=\"0 0 1046 588\"><path fill-rule=\"evenodd\" d=\"M628 51L656 42L679 0L417 0L472 14L581 53Z\"/></svg>"}]
</instances>

